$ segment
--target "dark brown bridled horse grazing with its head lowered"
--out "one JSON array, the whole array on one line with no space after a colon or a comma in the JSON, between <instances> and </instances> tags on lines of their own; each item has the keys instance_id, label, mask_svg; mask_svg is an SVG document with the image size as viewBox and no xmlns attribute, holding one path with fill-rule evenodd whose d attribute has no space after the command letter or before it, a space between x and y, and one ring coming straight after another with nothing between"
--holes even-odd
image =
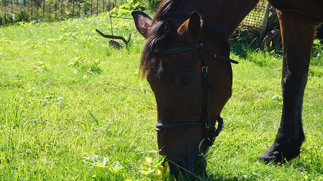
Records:
<instances>
[{"instance_id":1,"label":"dark brown bridled horse grazing with its head lowered","mask_svg":"<svg viewBox=\"0 0 323 181\"><path fill-rule=\"evenodd\" d=\"M159 154L167 155L175 175L192 171L196 158L207 153L222 129L220 113L232 95L231 63L237 63L229 58L229 38L257 2L164 0L153 18L132 12L137 31L146 39L140 68L156 100ZM305 139L303 96L323 4L268 2L277 9L282 34L283 110L274 143L257 160L284 162L300 154Z\"/></svg>"}]
</instances>

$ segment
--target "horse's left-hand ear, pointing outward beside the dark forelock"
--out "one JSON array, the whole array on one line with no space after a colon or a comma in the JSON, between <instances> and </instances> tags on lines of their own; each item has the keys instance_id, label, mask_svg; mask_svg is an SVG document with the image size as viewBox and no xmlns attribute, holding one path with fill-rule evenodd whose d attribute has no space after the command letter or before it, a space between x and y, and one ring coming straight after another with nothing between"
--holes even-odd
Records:
<instances>
[{"instance_id":1,"label":"horse's left-hand ear, pointing outward beside the dark forelock","mask_svg":"<svg viewBox=\"0 0 323 181\"><path fill-rule=\"evenodd\" d=\"M133 11L131 12L131 15L135 21L137 31L147 39L148 30L152 24L152 19L149 17L149 15L140 11Z\"/></svg>"}]
</instances>

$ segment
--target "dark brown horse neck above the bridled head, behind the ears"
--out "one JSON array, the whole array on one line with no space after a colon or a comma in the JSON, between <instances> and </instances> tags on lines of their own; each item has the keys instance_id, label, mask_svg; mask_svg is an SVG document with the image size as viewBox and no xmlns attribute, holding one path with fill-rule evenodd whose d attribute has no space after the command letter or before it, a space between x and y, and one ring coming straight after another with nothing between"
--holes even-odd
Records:
<instances>
[{"instance_id":1,"label":"dark brown horse neck above the bridled head, behind the ears","mask_svg":"<svg viewBox=\"0 0 323 181\"><path fill-rule=\"evenodd\" d=\"M178 11L197 11L202 16L223 27L228 38L234 33L242 20L256 6L259 0L184 0L180 1ZM176 0L174 0L176 2Z\"/></svg>"}]
</instances>

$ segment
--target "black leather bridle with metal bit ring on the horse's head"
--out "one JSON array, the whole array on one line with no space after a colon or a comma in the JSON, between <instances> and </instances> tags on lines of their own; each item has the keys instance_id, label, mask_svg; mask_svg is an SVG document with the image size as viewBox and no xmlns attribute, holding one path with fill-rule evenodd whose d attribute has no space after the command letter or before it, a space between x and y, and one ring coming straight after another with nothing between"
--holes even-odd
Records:
<instances>
[{"instance_id":1,"label":"black leather bridle with metal bit ring on the horse's head","mask_svg":"<svg viewBox=\"0 0 323 181\"><path fill-rule=\"evenodd\" d=\"M191 12L185 11L185 12L176 12L176 13L167 13L159 17L158 20L166 20L166 21L172 21L176 23L184 23L184 21L187 20L187 18L184 17L189 17ZM203 18L206 20L205 18ZM206 20L207 21L207 20ZM194 121L194 122L172 122L172 123L156 123L156 131L161 131L162 129L169 129L169 128L186 128L186 127L203 127L204 128L204 138L201 140L198 146L198 155L199 156L204 156L207 154L209 147L213 145L214 141L216 140L216 137L219 135L223 128L223 119L219 116L217 119L218 121L218 127L216 128L215 126L210 124L210 118L209 118L209 88L214 89L212 84L210 83L209 80L209 72L208 72L208 67L205 64L204 61L204 54L203 52L205 51L206 53L210 54L216 59L220 59L224 61L228 68L230 69L231 73L231 78L232 78L232 68L231 68L231 63L238 63L235 60L232 60L229 58L230 55L230 45L228 40L226 39L227 32L224 30L224 28L219 27L214 25L213 23L207 21L209 23L209 26L207 27L210 31L218 32L222 35L223 43L226 46L226 50L223 50L224 55L216 54L211 52L210 50L206 49L203 46L203 43L201 43L197 39L197 43L194 45L189 45L189 46L184 46L184 47L177 47L177 48L169 48L166 50L154 50L154 53L156 55L167 55L167 54L173 54L173 53L180 53L180 52L185 52L185 51L190 51L194 49L199 50L200 54L200 59L201 59L201 71L202 71L202 77L203 77L203 106L202 106L202 112L201 112L201 118L199 121ZM223 46L225 47L225 46ZM209 133L211 133L211 136L209 137ZM203 142L207 143L207 150L203 152L201 150L201 145Z\"/></svg>"}]
</instances>

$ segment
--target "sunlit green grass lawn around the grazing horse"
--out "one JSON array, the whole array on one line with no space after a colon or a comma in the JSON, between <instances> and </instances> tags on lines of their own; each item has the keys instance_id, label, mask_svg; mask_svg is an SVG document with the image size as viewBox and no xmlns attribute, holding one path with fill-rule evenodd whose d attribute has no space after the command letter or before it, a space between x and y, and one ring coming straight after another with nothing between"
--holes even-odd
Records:
<instances>
[{"instance_id":1,"label":"sunlit green grass lawn around the grazing horse","mask_svg":"<svg viewBox=\"0 0 323 181\"><path fill-rule=\"evenodd\" d=\"M135 33L125 21L115 22L115 35ZM109 34L109 23L99 16L0 29L0 180L152 179L139 171L146 156L157 158L154 96L138 70L144 39L135 34L116 50L94 31ZM305 91L301 156L275 165L256 158L279 127L281 57L237 46L246 50L231 54L240 63L208 179L323 180L322 47ZM93 155L109 168L84 161Z\"/></svg>"}]
</instances>

